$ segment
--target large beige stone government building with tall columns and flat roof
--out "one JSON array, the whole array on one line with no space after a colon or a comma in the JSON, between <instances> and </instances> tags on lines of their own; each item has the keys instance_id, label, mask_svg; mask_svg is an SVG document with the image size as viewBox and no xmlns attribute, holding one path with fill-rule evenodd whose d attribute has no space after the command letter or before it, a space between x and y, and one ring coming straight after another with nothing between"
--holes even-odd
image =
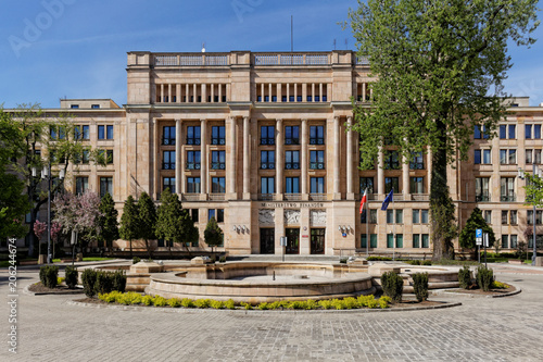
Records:
<instances>
[{"instance_id":1,"label":"large beige stone government building with tall columns and flat roof","mask_svg":"<svg viewBox=\"0 0 543 362\"><path fill-rule=\"evenodd\" d=\"M369 107L369 82L368 62L352 51L129 52L127 104L63 99L45 111L72 114L84 142L111 157L106 166L84 160L67 174L67 188L110 192L119 212L129 195L160 200L169 188L200 229L190 250L210 250L203 230L215 216L225 235L218 250L231 255L429 258L431 155L403 162L391 154L358 167L351 99ZM543 148L543 108L513 102L497 137L476 129L469 160L449 167L460 228L478 207L505 250L531 246L518 168L541 164ZM381 211L392 187L394 202ZM369 212L361 215L366 188ZM543 234L541 210L535 219ZM166 250L167 241L153 247ZM462 252L457 240L455 249Z\"/></svg>"}]
</instances>

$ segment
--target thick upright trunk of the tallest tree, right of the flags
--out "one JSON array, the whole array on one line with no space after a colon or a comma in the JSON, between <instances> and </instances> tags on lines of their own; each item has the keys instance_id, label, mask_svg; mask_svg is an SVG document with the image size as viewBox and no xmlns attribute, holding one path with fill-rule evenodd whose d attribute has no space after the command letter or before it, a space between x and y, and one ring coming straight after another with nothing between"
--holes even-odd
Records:
<instances>
[{"instance_id":1,"label":"thick upright trunk of the tallest tree, right of the flags","mask_svg":"<svg viewBox=\"0 0 543 362\"><path fill-rule=\"evenodd\" d=\"M454 204L449 194L446 175L446 128L437 121L441 128L441 147L432 153L432 173L430 186L431 238L433 244L432 260L454 259L453 239L456 235Z\"/></svg>"}]
</instances>

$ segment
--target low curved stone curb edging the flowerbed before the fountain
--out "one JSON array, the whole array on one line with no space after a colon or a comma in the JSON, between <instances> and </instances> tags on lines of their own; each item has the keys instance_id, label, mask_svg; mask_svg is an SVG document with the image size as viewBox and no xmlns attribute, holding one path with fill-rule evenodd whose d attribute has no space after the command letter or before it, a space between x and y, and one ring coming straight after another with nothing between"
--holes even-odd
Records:
<instances>
[{"instance_id":1,"label":"low curved stone curb edging the flowerbed before the fountain","mask_svg":"<svg viewBox=\"0 0 543 362\"><path fill-rule=\"evenodd\" d=\"M307 314L307 313L390 313L390 312L407 312L407 311L425 311L425 310L432 310L432 309L444 309L444 308L453 308L453 307L458 307L462 305L460 302L455 302L455 303L449 303L444 302L441 305L432 305L432 307L413 307L413 308L388 308L388 309L344 309L344 310L313 310L313 311L306 311L306 310L281 310L281 311L261 311L261 310L217 310L217 309L198 309L198 308L191 308L191 309L186 309L186 308L164 308L164 307L139 307L139 305L119 305L119 304L94 304L94 303L85 303L85 302L78 302L75 300L68 300L66 301L68 305L76 305L76 307L86 307L86 308L109 308L109 309L118 309L118 310L124 310L124 311L135 311L135 312L142 312L142 311L152 311L152 312L166 312L166 313L227 313L227 314L244 314L244 315L262 315L262 314Z\"/></svg>"}]
</instances>

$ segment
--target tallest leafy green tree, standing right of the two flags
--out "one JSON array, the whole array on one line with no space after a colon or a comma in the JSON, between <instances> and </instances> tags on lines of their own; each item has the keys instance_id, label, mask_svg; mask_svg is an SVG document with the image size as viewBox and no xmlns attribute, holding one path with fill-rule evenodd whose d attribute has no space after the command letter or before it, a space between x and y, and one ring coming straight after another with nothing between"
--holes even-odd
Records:
<instances>
[{"instance_id":1,"label":"tallest leafy green tree, standing right of the two flags","mask_svg":"<svg viewBox=\"0 0 543 362\"><path fill-rule=\"evenodd\" d=\"M508 41L535 41L536 3L368 0L350 11L358 55L369 60L375 76L370 107L354 104L362 166L381 151L397 150L404 162L431 151L433 259L454 257L447 165L467 158L476 126L493 135L505 116Z\"/></svg>"}]
</instances>

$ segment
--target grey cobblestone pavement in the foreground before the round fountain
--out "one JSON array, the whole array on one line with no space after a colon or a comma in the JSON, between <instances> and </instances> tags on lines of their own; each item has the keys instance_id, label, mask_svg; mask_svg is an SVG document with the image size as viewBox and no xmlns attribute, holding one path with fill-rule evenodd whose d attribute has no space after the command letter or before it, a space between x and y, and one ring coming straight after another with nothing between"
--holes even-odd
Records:
<instances>
[{"instance_id":1,"label":"grey cobblestone pavement in the foreground before the round fountain","mask_svg":"<svg viewBox=\"0 0 543 362\"><path fill-rule=\"evenodd\" d=\"M18 273L13 354L0 272L0 361L543 361L541 273L500 269L500 280L522 288L514 297L435 296L463 305L381 313L89 308L68 304L74 296L23 294L36 279L36 272Z\"/></svg>"}]
</instances>

